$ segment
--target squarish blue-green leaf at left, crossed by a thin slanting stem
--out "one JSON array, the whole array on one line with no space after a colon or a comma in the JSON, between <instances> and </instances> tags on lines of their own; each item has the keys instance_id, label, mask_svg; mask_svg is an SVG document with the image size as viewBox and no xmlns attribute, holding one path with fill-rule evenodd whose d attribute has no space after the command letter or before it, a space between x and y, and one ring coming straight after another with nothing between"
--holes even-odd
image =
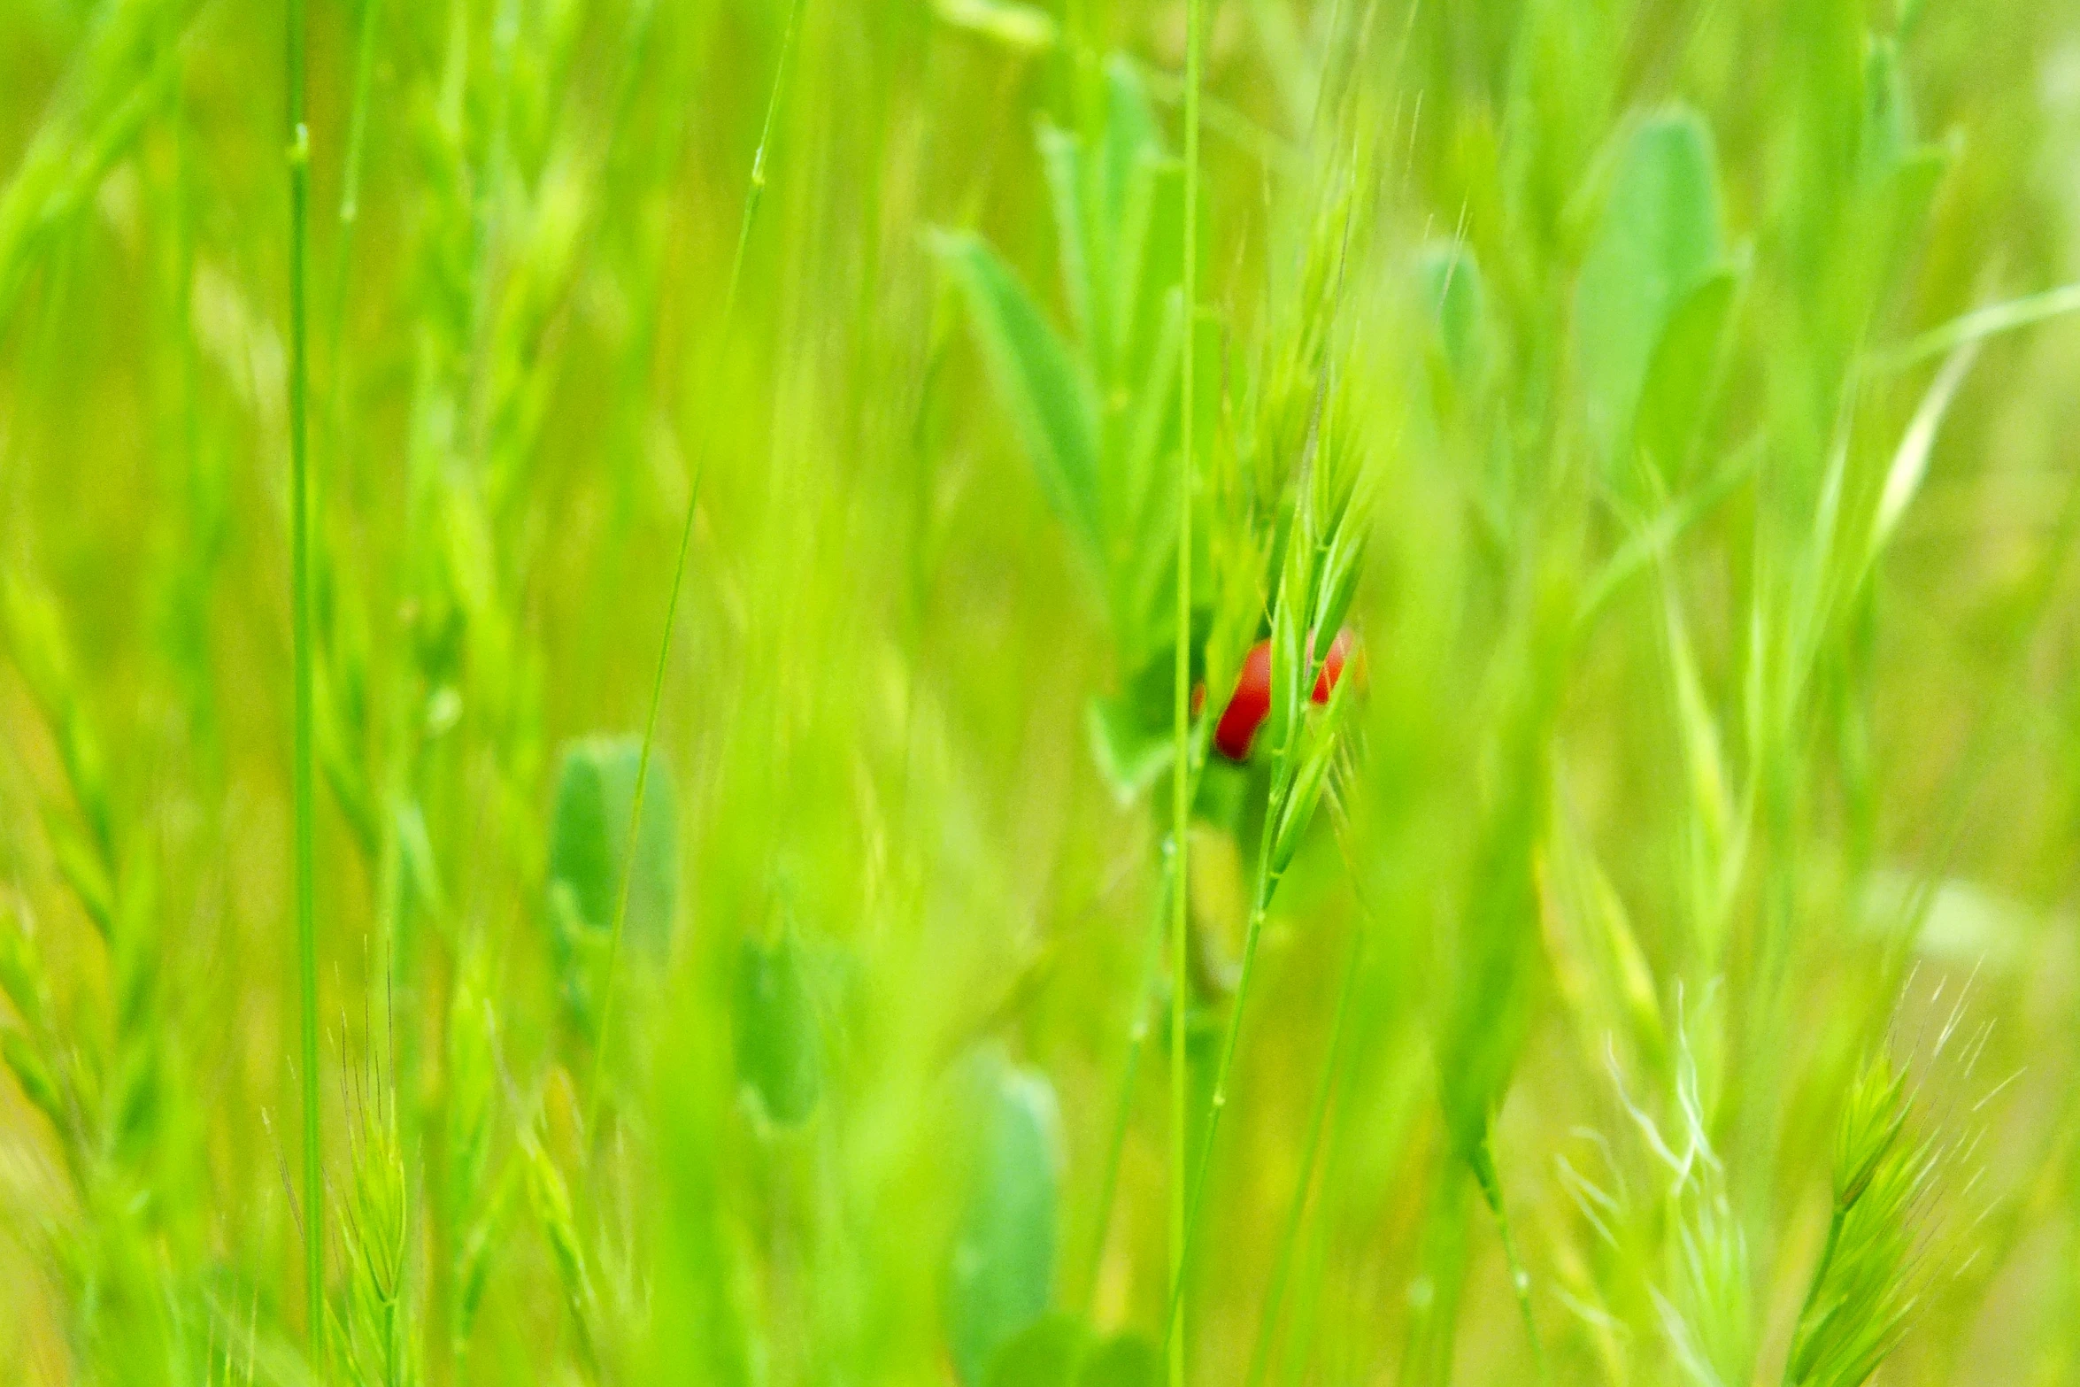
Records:
<instances>
[{"instance_id":1,"label":"squarish blue-green leaf at left, crossed by a thin slanting stem","mask_svg":"<svg viewBox=\"0 0 2080 1387\"><path fill-rule=\"evenodd\" d=\"M614 930L614 909L628 867L628 826L634 813L634 736L591 736L564 749L549 826L549 888L568 890L572 923L597 934ZM664 952L678 890L678 813L672 774L651 761L643 790L643 823L634 834L624 938Z\"/></svg>"}]
</instances>

